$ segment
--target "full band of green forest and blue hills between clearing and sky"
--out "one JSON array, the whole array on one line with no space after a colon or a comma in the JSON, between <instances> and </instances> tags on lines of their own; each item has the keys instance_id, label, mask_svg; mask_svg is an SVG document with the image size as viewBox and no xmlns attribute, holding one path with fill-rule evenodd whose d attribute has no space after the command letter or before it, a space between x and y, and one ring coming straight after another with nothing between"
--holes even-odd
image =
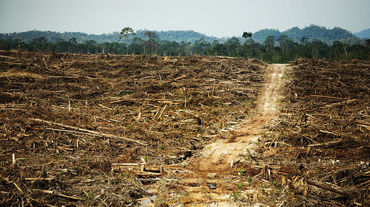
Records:
<instances>
[{"instance_id":1,"label":"full band of green forest and blue hills between clearing and sky","mask_svg":"<svg viewBox=\"0 0 370 207\"><path fill-rule=\"evenodd\" d=\"M194 32L190 33L194 34ZM45 36L37 37L40 34ZM326 60L368 60L370 58L369 39L361 40L340 28L327 30L314 25L303 30L292 28L284 33L279 33L277 30L263 30L256 34L245 32L243 34L244 39L242 37L231 37L226 40L219 40L217 38L208 38L205 35L198 35L196 37L200 38L195 41L191 39L191 41L181 42L161 38L177 38L176 35L182 34L181 31L167 33L138 31L135 33L129 27L122 29L121 33L117 33L115 41L106 39L107 42L104 43L98 43L98 41L93 40L101 37L101 35L87 35L91 39L81 42L81 36L77 39L72 37L72 33L58 33L60 35L63 34L63 37L71 38L65 40L58 37L53 41L55 34L53 32L33 31L26 35L26 39L22 37L23 33L8 34L7 37L4 37L4 34L0 34L0 49L53 51L57 53L231 56L257 58L268 63L286 63L298 58ZM83 33L78 34L82 35ZM167 36L164 34L167 34ZM173 34L171 38L169 37L171 36L170 34ZM30 40L31 37L37 38ZM82 37L86 36L82 35ZM122 38L125 39L124 43L117 41ZM265 39L262 40L261 38Z\"/></svg>"}]
</instances>

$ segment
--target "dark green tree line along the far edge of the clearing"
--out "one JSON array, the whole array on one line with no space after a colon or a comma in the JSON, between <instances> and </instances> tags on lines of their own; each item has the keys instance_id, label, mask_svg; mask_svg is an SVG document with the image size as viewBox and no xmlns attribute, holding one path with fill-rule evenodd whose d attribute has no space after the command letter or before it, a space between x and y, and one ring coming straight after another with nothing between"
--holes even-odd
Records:
<instances>
[{"instance_id":1,"label":"dark green tree line along the far edge of the clearing","mask_svg":"<svg viewBox=\"0 0 370 207\"><path fill-rule=\"evenodd\" d=\"M126 29L124 31L124 29ZM69 40L57 39L48 42L45 37L33 39L31 42L23 42L20 39L0 40L2 50L27 50L57 53L92 53L92 54L135 54L135 55L160 55L160 56L230 56L257 58L268 63L285 63L298 58L316 58L327 60L369 60L370 40L363 43L348 44L335 41L327 44L320 40L310 40L302 37L299 42L294 42L288 36L267 36L263 43L253 40L252 33L244 33L246 41L232 37L225 42L218 40L206 41L201 38L194 43L175 42L161 40L156 32L147 31L144 38L134 36L134 31L124 28L121 38L117 42L97 43L95 40L87 40L78 43L76 38ZM133 39L127 41L128 36Z\"/></svg>"}]
</instances>

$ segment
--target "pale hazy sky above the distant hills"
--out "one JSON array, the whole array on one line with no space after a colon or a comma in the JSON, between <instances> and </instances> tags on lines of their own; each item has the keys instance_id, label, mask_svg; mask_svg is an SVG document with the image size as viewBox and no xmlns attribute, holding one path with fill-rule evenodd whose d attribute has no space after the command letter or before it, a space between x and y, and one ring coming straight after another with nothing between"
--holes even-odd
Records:
<instances>
[{"instance_id":1,"label":"pale hazy sky above the distant hills","mask_svg":"<svg viewBox=\"0 0 370 207\"><path fill-rule=\"evenodd\" d=\"M0 33L194 30L217 37L317 24L370 28L370 0L0 0Z\"/></svg>"}]
</instances>

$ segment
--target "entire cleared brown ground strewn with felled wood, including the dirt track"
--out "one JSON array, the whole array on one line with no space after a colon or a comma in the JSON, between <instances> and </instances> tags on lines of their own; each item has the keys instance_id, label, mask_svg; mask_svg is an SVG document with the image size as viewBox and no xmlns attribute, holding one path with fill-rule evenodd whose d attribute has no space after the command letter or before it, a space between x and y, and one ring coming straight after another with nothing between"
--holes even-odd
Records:
<instances>
[{"instance_id":1,"label":"entire cleared brown ground strewn with felled wood, including the dirt track","mask_svg":"<svg viewBox=\"0 0 370 207\"><path fill-rule=\"evenodd\" d=\"M0 51L0 205L370 206L369 71Z\"/></svg>"}]
</instances>

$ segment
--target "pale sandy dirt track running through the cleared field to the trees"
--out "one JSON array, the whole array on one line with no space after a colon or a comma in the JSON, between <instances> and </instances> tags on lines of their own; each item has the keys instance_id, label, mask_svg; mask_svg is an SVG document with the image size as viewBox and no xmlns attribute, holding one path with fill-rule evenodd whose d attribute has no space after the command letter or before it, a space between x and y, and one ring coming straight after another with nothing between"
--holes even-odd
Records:
<instances>
[{"instance_id":1,"label":"pale sandy dirt track running through the cleared field to the trees","mask_svg":"<svg viewBox=\"0 0 370 207\"><path fill-rule=\"evenodd\" d=\"M199 154L187 160L183 167L172 169L172 173L164 179L166 187L159 189L157 186L153 190L159 195L155 196L156 205L162 193L162 197L167 199L171 195L173 206L239 206L230 199L231 189L235 188L235 166L246 156L255 153L264 127L275 117L285 69L286 65L283 64L267 67L266 82L257 100L254 115L226 139L218 139L207 145ZM152 203L146 200L143 204L151 206Z\"/></svg>"}]
</instances>

